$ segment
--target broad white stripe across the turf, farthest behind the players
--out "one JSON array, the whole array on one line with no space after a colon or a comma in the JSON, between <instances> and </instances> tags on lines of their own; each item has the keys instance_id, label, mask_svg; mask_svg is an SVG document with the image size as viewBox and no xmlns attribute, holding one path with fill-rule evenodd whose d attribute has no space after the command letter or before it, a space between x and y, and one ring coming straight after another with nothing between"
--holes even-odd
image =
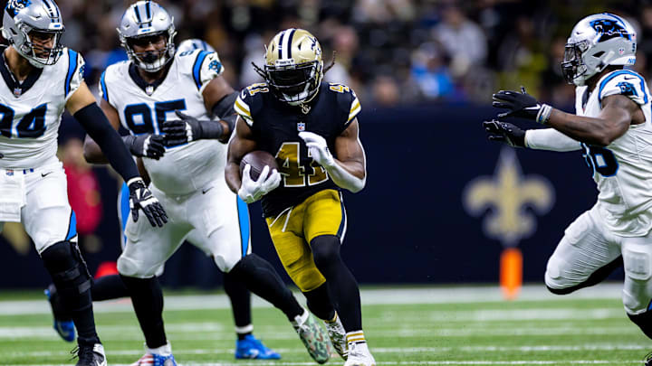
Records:
<instances>
[{"instance_id":1,"label":"broad white stripe across the turf, farthest behind the players","mask_svg":"<svg viewBox=\"0 0 652 366\"><path fill-rule=\"evenodd\" d=\"M543 285L523 286L517 301L532 300L568 300L572 299L619 299L622 286L620 284L601 284L584 288L571 296L554 296ZM302 299L301 294L296 294ZM415 305L415 304L447 304L470 303L482 304L502 301L503 296L497 286L459 286L459 287L395 287L373 289L363 288L360 291L363 305ZM2 297L2 296L0 296ZM252 297L254 307L271 307L266 301ZM225 295L199 296L166 296L167 310L201 310L228 309L231 304ZM127 299L104 301L93 305L96 313L132 312L133 308ZM45 301L0 301L0 314L49 314L50 307Z\"/></svg>"}]
</instances>

